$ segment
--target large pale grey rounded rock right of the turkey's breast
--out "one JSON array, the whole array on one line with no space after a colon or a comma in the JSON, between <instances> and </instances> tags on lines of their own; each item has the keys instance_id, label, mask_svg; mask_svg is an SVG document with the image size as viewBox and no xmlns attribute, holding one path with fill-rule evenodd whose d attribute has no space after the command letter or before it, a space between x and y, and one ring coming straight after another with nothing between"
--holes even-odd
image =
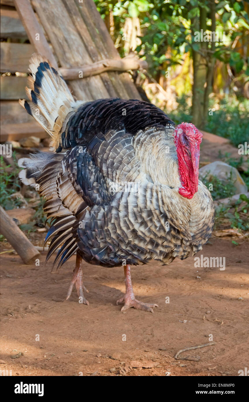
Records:
<instances>
[{"instance_id":1,"label":"large pale grey rounded rock right of the turkey's breast","mask_svg":"<svg viewBox=\"0 0 249 402\"><path fill-rule=\"evenodd\" d=\"M209 180L211 176L217 176L224 183L232 180L234 182L236 194L247 193L247 186L238 170L225 162L221 162L220 160L216 160L215 162L202 166L202 168L199 169L199 175L200 180L202 180L204 176L206 176L207 180Z\"/></svg>"}]
</instances>

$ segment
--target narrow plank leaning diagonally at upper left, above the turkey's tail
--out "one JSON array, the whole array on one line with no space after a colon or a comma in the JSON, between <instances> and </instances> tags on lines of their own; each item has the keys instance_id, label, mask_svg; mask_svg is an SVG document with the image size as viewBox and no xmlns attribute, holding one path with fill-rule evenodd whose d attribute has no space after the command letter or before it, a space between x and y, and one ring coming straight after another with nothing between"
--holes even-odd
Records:
<instances>
[{"instance_id":1,"label":"narrow plank leaning diagonally at upper left, above the turkey's tail","mask_svg":"<svg viewBox=\"0 0 249 402\"><path fill-rule=\"evenodd\" d=\"M53 52L47 43L43 29L37 21L37 17L35 16L29 0L14 0L14 4L20 16L20 20L26 29L30 43L33 44L37 53L46 57L51 66L57 69L58 66Z\"/></svg>"}]
</instances>

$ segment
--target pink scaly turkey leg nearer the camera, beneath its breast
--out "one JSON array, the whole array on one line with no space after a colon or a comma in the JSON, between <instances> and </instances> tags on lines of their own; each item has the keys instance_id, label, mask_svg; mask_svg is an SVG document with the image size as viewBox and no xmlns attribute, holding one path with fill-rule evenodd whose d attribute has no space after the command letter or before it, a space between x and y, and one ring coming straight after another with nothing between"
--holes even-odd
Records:
<instances>
[{"instance_id":1,"label":"pink scaly turkey leg nearer the camera, beneath its breast","mask_svg":"<svg viewBox=\"0 0 249 402\"><path fill-rule=\"evenodd\" d=\"M121 297L121 299L117 300L117 304L124 303L124 306L121 308L121 311L125 311L130 307L137 308L138 310L150 311L153 313L153 307L158 307L157 304L154 303L143 303L135 299L135 295L133 292L133 287L131 283L131 268L130 265L124 266L125 271L125 296Z\"/></svg>"}]
</instances>

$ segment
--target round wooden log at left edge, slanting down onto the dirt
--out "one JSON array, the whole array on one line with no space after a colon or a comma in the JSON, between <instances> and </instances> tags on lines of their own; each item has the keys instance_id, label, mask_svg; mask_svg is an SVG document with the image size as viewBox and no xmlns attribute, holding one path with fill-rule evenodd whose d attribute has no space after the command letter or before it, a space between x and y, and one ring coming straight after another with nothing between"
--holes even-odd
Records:
<instances>
[{"instance_id":1,"label":"round wooden log at left edge, slanting down onto the dirt","mask_svg":"<svg viewBox=\"0 0 249 402\"><path fill-rule=\"evenodd\" d=\"M0 207L0 232L22 258L24 264L29 264L40 255L37 248L29 241L15 224L13 219Z\"/></svg>"}]
</instances>

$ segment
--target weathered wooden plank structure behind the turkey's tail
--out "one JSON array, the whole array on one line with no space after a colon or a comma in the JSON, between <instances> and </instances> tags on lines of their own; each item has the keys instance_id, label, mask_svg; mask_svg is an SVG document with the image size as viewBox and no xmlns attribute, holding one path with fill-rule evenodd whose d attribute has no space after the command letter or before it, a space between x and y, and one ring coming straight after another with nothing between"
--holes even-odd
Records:
<instances>
[{"instance_id":1,"label":"weathered wooden plank structure behind the turkey's tail","mask_svg":"<svg viewBox=\"0 0 249 402\"><path fill-rule=\"evenodd\" d=\"M47 137L18 104L19 98L27 98L27 69L35 51L69 80L78 99L140 99L126 71L144 66L134 57L120 58L92 0L1 0L0 4L1 142Z\"/></svg>"}]
</instances>

